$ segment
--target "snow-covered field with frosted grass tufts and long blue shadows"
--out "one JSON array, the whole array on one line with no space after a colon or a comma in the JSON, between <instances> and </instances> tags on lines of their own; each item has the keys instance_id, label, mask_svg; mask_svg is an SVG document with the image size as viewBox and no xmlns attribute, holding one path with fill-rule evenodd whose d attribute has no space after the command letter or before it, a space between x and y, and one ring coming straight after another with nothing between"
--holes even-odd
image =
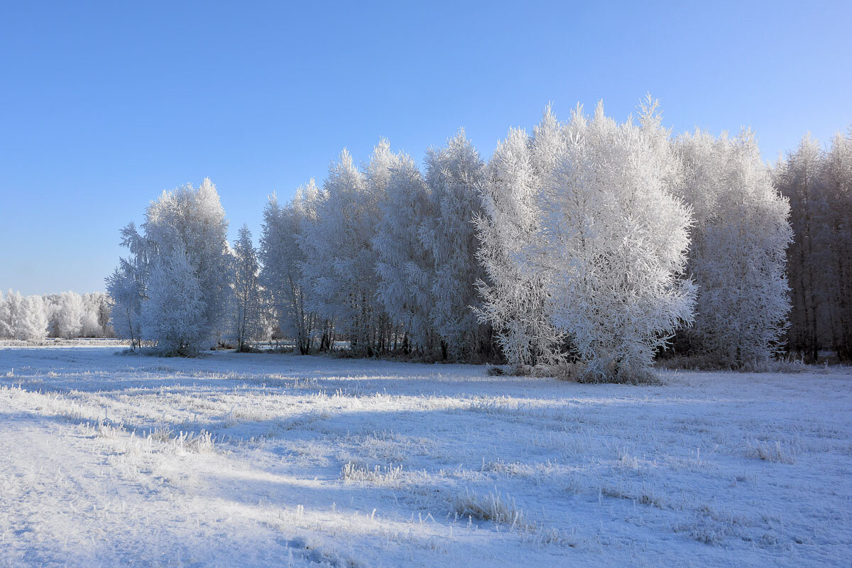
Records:
<instances>
[{"instance_id":1,"label":"snow-covered field with frosted grass tufts and long blue shadows","mask_svg":"<svg viewBox=\"0 0 852 568\"><path fill-rule=\"evenodd\" d=\"M0 349L0 565L849 566L852 370Z\"/></svg>"}]
</instances>

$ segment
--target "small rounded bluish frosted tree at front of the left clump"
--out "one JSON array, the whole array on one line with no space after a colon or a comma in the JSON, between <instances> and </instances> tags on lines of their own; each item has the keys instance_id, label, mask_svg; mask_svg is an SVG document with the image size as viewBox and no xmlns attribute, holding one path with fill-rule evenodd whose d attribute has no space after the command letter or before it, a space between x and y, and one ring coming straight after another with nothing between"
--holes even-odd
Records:
<instances>
[{"instance_id":1,"label":"small rounded bluish frosted tree at front of the left clump","mask_svg":"<svg viewBox=\"0 0 852 568\"><path fill-rule=\"evenodd\" d=\"M160 249L148 273L141 328L164 354L193 355L209 330L196 267L181 241Z\"/></svg>"}]
</instances>

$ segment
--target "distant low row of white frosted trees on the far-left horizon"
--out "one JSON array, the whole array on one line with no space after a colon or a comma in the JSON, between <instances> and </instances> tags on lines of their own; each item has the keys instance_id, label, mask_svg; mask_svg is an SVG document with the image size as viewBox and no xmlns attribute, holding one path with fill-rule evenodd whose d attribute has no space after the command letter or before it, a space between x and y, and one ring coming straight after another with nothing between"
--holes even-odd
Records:
<instances>
[{"instance_id":1,"label":"distant low row of white frosted trees on the far-left horizon","mask_svg":"<svg viewBox=\"0 0 852 568\"><path fill-rule=\"evenodd\" d=\"M0 339L110 337L112 300L103 292L23 296L0 293Z\"/></svg>"}]
</instances>

